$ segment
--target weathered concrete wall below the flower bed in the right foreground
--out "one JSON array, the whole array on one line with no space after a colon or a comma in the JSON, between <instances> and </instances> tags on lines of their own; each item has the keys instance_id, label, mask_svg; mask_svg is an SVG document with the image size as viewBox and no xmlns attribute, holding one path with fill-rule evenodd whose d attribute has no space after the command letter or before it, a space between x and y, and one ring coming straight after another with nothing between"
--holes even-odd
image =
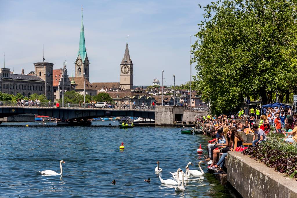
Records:
<instances>
[{"instance_id":1,"label":"weathered concrete wall below the flower bed in the right foreground","mask_svg":"<svg viewBox=\"0 0 297 198\"><path fill-rule=\"evenodd\" d=\"M242 197L296 198L297 181L240 152L228 152L227 181Z\"/></svg>"}]
</instances>

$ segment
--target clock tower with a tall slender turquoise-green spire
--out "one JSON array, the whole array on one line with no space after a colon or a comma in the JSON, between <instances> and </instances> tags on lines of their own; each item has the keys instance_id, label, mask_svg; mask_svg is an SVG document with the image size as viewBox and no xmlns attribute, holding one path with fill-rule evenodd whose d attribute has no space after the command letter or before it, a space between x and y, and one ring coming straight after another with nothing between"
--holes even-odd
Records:
<instances>
[{"instance_id":1,"label":"clock tower with a tall slender turquoise-green spire","mask_svg":"<svg viewBox=\"0 0 297 198\"><path fill-rule=\"evenodd\" d=\"M83 29L83 8L81 8L81 27L78 56L74 62L75 64L75 77L83 77L85 73L86 79L89 81L89 59L86 52L85 33Z\"/></svg>"}]
</instances>

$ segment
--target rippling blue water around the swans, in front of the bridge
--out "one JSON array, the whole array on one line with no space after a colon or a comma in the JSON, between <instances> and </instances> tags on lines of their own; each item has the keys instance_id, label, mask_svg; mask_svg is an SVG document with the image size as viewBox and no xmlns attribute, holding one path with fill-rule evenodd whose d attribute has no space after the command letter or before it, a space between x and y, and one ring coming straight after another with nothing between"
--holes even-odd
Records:
<instances>
[{"instance_id":1,"label":"rippling blue water around the swans, in front of the bridge","mask_svg":"<svg viewBox=\"0 0 297 198\"><path fill-rule=\"evenodd\" d=\"M26 124L29 127L26 127ZM177 134L175 127L135 127L119 129L100 125L113 121L93 121L92 126L56 126L46 122L3 122L0 125L0 197L232 197L215 177L191 177L186 190L162 185L154 169L160 161L162 179L168 172L185 171L191 161L206 154L210 139L204 135ZM125 149L119 150L121 142ZM199 144L203 154L197 154ZM63 176L43 176L38 170L60 172ZM144 179L151 178L151 182ZM116 185L111 183L116 180Z\"/></svg>"}]
</instances>

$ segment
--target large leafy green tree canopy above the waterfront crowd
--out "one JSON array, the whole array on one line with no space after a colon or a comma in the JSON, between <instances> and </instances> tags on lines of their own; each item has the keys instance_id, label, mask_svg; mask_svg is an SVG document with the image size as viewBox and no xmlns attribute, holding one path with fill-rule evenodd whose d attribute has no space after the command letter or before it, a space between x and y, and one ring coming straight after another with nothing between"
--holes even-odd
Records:
<instances>
[{"instance_id":1,"label":"large leafy green tree canopy above the waterfront crowd","mask_svg":"<svg viewBox=\"0 0 297 198\"><path fill-rule=\"evenodd\" d=\"M192 62L212 113L233 111L249 96L271 102L277 90L282 102L297 89L296 1L220 0L204 11Z\"/></svg>"}]
</instances>

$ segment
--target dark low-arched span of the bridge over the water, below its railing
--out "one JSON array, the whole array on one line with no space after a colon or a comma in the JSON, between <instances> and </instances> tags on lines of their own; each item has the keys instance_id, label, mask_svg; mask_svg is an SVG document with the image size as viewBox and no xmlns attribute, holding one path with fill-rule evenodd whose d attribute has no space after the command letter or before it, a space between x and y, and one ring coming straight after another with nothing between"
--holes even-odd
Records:
<instances>
[{"instance_id":1,"label":"dark low-arched span of the bridge over the water, below its railing","mask_svg":"<svg viewBox=\"0 0 297 198\"><path fill-rule=\"evenodd\" d=\"M18 114L37 114L60 120L86 120L106 116L143 117L155 120L151 109L102 109L83 107L0 106L0 118Z\"/></svg>"}]
</instances>

